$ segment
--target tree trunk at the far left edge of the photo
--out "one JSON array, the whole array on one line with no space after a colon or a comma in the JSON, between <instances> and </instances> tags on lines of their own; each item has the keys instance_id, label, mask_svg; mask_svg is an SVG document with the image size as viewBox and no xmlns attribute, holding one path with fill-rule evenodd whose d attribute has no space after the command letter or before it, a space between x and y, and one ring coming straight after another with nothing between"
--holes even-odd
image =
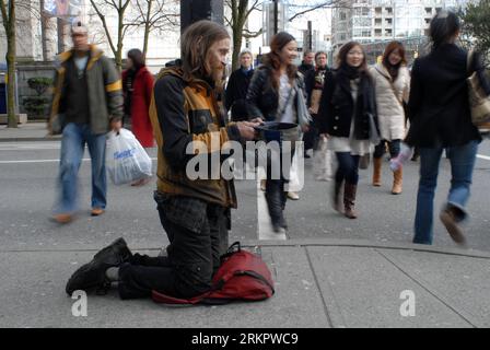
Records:
<instances>
[{"instance_id":1,"label":"tree trunk at the far left edge of the photo","mask_svg":"<svg viewBox=\"0 0 490 350\"><path fill-rule=\"evenodd\" d=\"M7 31L7 115L8 115L8 127L16 128L18 121L15 118L15 4L11 0L9 4L9 30Z\"/></svg>"}]
</instances>

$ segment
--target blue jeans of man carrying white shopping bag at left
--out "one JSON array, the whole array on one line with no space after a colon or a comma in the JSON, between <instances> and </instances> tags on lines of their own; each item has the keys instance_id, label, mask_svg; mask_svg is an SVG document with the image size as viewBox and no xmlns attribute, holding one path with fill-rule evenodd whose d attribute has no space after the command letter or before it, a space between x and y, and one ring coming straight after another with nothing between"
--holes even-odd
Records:
<instances>
[{"instance_id":1,"label":"blue jeans of man carrying white shopping bag at left","mask_svg":"<svg viewBox=\"0 0 490 350\"><path fill-rule=\"evenodd\" d=\"M77 176L85 143L92 160L92 208L105 209L107 180L105 171L106 136L93 135L90 126L70 122L63 129L59 165L58 202L55 212L73 213L77 210Z\"/></svg>"}]
</instances>

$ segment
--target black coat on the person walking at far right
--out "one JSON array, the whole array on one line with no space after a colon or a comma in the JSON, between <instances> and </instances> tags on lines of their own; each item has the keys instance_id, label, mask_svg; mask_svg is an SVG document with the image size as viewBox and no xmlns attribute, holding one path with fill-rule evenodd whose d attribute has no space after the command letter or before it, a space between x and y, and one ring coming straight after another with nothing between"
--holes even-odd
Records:
<instances>
[{"instance_id":1,"label":"black coat on the person walking at far right","mask_svg":"<svg viewBox=\"0 0 490 350\"><path fill-rule=\"evenodd\" d=\"M408 143L432 148L481 140L471 124L467 55L454 44L444 44L415 61L408 104L411 121ZM480 63L477 66L482 69Z\"/></svg>"}]
</instances>

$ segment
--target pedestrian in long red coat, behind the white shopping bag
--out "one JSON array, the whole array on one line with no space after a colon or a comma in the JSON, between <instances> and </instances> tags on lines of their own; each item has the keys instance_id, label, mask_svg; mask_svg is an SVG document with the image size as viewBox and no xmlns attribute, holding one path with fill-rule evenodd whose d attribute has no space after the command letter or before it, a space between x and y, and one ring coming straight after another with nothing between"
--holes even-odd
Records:
<instances>
[{"instance_id":1,"label":"pedestrian in long red coat, behind the white shopping bag","mask_svg":"<svg viewBox=\"0 0 490 350\"><path fill-rule=\"evenodd\" d=\"M130 129L145 149L154 147L153 128L149 108L153 92L153 77L147 69L144 56L135 48L128 51L126 70L122 72L122 90L125 96L124 125ZM136 180L131 186L142 186L151 178Z\"/></svg>"}]
</instances>

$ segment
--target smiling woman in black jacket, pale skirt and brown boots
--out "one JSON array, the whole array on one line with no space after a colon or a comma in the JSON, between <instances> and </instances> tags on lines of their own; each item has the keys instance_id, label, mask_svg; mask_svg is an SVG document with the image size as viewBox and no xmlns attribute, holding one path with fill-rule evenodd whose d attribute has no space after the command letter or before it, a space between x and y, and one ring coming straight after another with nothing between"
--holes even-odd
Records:
<instances>
[{"instance_id":1,"label":"smiling woman in black jacket, pale skirt and brown boots","mask_svg":"<svg viewBox=\"0 0 490 350\"><path fill-rule=\"evenodd\" d=\"M340 48L338 69L325 78L318 120L319 132L329 138L338 161L334 208L342 212L340 194L345 184L343 213L357 219L359 161L371 152L372 140L378 133L374 84L361 44L350 42Z\"/></svg>"}]
</instances>

